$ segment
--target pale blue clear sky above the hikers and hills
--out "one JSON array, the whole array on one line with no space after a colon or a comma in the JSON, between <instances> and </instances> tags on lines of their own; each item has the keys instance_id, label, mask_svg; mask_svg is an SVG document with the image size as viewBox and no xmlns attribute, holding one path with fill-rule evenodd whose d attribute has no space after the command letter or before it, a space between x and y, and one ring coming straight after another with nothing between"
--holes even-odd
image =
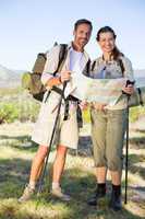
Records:
<instances>
[{"instance_id":1,"label":"pale blue clear sky above the hikers and hills","mask_svg":"<svg viewBox=\"0 0 145 219\"><path fill-rule=\"evenodd\" d=\"M144 0L0 0L0 65L31 71L38 53L49 50L55 42L73 39L78 19L93 22L86 46L92 59L101 54L97 31L109 25L133 68L145 69Z\"/></svg>"}]
</instances>

